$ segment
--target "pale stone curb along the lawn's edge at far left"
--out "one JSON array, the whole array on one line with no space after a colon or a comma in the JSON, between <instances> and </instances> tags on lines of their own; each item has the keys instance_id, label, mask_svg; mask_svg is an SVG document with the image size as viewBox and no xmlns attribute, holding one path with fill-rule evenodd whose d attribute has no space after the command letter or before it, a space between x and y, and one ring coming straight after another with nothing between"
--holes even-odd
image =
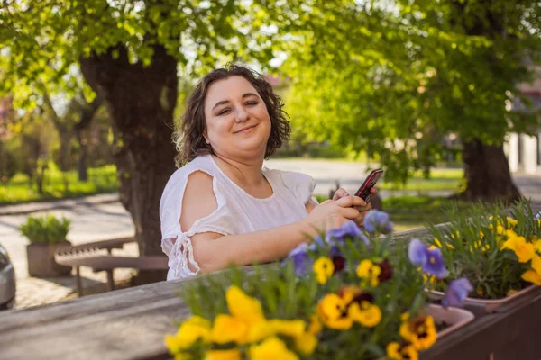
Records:
<instances>
[{"instance_id":1,"label":"pale stone curb along the lawn's edge at far left","mask_svg":"<svg viewBox=\"0 0 541 360\"><path fill-rule=\"evenodd\" d=\"M51 211L60 209L71 209L76 206L94 206L102 203L119 202L118 193L100 193L97 195L80 197L68 200L56 200L52 202L27 202L17 205L6 205L0 207L0 216L25 215L38 211Z\"/></svg>"}]
</instances>

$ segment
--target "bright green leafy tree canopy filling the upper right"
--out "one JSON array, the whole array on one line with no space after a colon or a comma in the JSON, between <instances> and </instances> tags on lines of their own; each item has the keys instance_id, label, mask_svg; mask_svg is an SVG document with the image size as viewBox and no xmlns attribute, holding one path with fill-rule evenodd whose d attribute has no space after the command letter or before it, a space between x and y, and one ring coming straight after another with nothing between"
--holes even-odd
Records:
<instances>
[{"instance_id":1,"label":"bright green leafy tree canopy filling the upper right","mask_svg":"<svg viewBox=\"0 0 541 360\"><path fill-rule=\"evenodd\" d=\"M533 79L531 66L539 61L540 6L328 5L298 34L301 41L285 64L293 79L294 128L310 139L368 150L400 180L409 170L434 165L441 139L450 132L464 144L500 148L509 131L531 131L528 125L536 123L534 113L510 111L510 104L527 103L517 86ZM502 163L501 172L506 167ZM489 171L481 169L485 180Z\"/></svg>"}]
</instances>

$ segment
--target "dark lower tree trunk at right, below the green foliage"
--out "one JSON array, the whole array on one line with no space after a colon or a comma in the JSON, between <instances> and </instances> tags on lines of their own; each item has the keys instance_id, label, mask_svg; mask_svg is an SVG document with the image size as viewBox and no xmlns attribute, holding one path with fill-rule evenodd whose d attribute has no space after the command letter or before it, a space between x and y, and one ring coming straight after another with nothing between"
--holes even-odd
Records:
<instances>
[{"instance_id":1,"label":"dark lower tree trunk at right, below the green foliage","mask_svg":"<svg viewBox=\"0 0 541 360\"><path fill-rule=\"evenodd\" d=\"M520 193L509 172L503 146L485 145L480 139L463 144L466 190L459 198L469 201L513 202Z\"/></svg>"}]
</instances>

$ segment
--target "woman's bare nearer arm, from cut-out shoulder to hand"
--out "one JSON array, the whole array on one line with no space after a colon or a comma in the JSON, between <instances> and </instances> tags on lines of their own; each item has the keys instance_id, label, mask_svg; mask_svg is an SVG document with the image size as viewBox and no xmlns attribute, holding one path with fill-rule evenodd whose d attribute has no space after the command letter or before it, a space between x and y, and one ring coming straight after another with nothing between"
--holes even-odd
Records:
<instances>
[{"instance_id":1,"label":"woman's bare nearer arm, from cut-out shoulder to hand","mask_svg":"<svg viewBox=\"0 0 541 360\"><path fill-rule=\"evenodd\" d=\"M227 236L215 232L196 234L191 237L193 255L203 273L225 269L231 264L242 266L275 261L307 241L307 236L316 236L316 228L335 228L345 220L357 218L359 211L352 206L358 206L360 201L361 198L356 196L336 202L328 200L310 210L307 219L273 229ZM189 176L182 208L180 225L184 231L196 220L215 211L217 203L210 175L197 172Z\"/></svg>"}]
</instances>

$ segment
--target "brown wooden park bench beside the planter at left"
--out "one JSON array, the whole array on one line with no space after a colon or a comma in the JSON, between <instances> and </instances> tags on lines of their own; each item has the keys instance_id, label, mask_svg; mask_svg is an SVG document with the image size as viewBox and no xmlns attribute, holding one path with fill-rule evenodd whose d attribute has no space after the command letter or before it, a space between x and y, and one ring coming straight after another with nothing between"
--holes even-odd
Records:
<instances>
[{"instance_id":1,"label":"brown wooden park bench beside the planter at left","mask_svg":"<svg viewBox=\"0 0 541 360\"><path fill-rule=\"evenodd\" d=\"M60 247L54 254L55 261L63 266L71 266L76 271L78 296L83 294L80 266L87 266L97 273L107 272L109 290L115 290L113 272L118 268L138 270L167 270L166 256L115 257L114 248L123 248L125 244L135 242L135 238L115 238L75 246Z\"/></svg>"}]
</instances>

